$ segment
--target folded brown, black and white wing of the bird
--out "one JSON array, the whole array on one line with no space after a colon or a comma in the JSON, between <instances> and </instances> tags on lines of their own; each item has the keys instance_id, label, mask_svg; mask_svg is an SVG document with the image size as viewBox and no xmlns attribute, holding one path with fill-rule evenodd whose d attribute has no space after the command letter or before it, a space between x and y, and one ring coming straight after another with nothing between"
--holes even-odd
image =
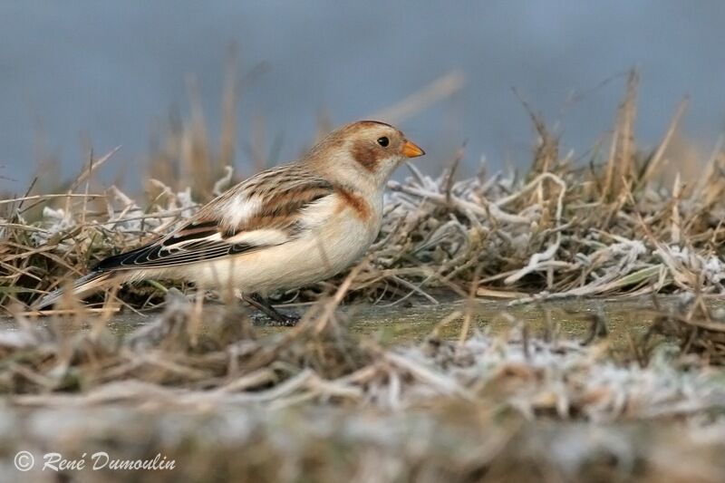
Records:
<instances>
[{"instance_id":1,"label":"folded brown, black and white wing of the bird","mask_svg":"<svg viewBox=\"0 0 725 483\"><path fill-rule=\"evenodd\" d=\"M308 172L289 166L264 171L209 202L167 237L110 256L93 270L178 266L283 245L311 229L310 208L333 195L330 182Z\"/></svg>"}]
</instances>

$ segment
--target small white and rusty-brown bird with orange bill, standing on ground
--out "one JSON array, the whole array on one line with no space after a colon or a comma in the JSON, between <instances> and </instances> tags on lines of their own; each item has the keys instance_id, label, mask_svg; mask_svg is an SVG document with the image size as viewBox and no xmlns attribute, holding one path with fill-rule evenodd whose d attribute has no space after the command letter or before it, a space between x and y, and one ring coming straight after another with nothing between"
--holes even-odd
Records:
<instances>
[{"instance_id":1,"label":"small white and rusty-brown bird with orange bill, standing on ground","mask_svg":"<svg viewBox=\"0 0 725 483\"><path fill-rule=\"evenodd\" d=\"M169 234L102 259L70 289L83 296L111 283L181 279L232 288L274 324L294 325L299 316L280 313L267 297L330 278L364 255L382 226L388 179L424 154L391 124L343 125L300 159L229 188Z\"/></svg>"}]
</instances>

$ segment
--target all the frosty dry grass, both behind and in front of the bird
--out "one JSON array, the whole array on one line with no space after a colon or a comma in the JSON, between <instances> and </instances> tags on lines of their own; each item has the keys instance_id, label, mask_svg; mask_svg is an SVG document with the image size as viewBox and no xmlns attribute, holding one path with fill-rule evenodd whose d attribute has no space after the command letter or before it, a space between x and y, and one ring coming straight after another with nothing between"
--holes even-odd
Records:
<instances>
[{"instance_id":1,"label":"all the frosty dry grass, both behind and in front of the bird","mask_svg":"<svg viewBox=\"0 0 725 483\"><path fill-rule=\"evenodd\" d=\"M57 195L31 188L3 200L0 306L19 330L0 332L0 459L17 449L161 452L193 481L725 479L717 367L725 315L702 302L723 289L725 157L718 147L696 182L675 176L663 186L684 107L644 152L633 135L636 88L633 73L610 149L585 167L560 156L533 114L538 140L526 176L482 169L456 180L462 151L437 179L411 166L410 178L391 182L381 237L365 260L280 295L312 304L298 326L267 337L237 305L203 305L204 294L184 285L176 285L184 295L159 283L113 290L96 312L72 300L50 319L23 312L94 261L174 227L235 180L225 170L233 130L212 149L200 110L160 144L143 202L120 188L93 189L93 172L112 152ZM265 164L264 150L254 151ZM531 333L513 318L510 333L478 333L467 309L440 322L463 321L457 341L434 331L385 347L350 333L335 313L346 300L436 303L457 294L521 304L675 291L696 295L660 311L624 362L597 337L601 324L587 344L555 327ZM152 323L122 338L110 332L116 297L134 309L165 292L165 312Z\"/></svg>"}]
</instances>

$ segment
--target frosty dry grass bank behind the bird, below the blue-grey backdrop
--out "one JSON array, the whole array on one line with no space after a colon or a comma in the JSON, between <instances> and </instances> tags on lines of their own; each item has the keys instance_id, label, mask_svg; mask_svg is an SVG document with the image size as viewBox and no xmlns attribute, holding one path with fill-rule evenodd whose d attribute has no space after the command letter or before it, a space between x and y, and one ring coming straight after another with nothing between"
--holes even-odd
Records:
<instances>
[{"instance_id":1,"label":"frosty dry grass bank behind the bird, below the blue-grey backdrop","mask_svg":"<svg viewBox=\"0 0 725 483\"><path fill-rule=\"evenodd\" d=\"M456 180L462 151L436 179L411 165L408 179L390 184L381 236L348 298L400 301L420 295L432 301L440 291L467 295L474 274L477 295L519 302L677 290L722 293L725 156L718 147L702 162L704 176L686 185L678 175L672 188L663 186L666 161L699 162L667 159L684 105L659 146L638 150L636 89L633 72L601 163L594 157L581 166L571 155L562 158L556 137L532 114L538 140L524 177L487 176L481 169L476 177ZM102 193L89 188L93 170L112 152L94 159L64 193L2 201L0 306L28 303L104 256L158 236L235 180L225 170L230 134L225 131L213 150L200 109L192 111L189 126L179 121L153 156L156 177L143 203L120 188ZM260 164L266 162L262 158ZM344 276L282 299L315 300ZM159 294L153 288L158 286L122 290L121 298L142 306Z\"/></svg>"}]
</instances>

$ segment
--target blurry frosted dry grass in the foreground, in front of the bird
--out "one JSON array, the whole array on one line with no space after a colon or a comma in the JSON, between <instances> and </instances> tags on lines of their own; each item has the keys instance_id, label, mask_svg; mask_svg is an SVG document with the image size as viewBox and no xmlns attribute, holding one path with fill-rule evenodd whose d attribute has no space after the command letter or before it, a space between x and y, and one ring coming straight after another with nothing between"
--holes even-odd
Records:
<instances>
[{"instance_id":1,"label":"blurry frosted dry grass in the foreground, in front of the bird","mask_svg":"<svg viewBox=\"0 0 725 483\"><path fill-rule=\"evenodd\" d=\"M232 307L208 308L202 325L196 304L169 297L122 339L96 317L79 331L80 314L47 325L18 316L19 331L0 332L0 392L12 395L0 411L5 458L160 453L178 469L66 471L87 481L725 476L722 372L686 348L648 346L643 365L617 364L606 338L583 345L516 320L506 335L432 333L386 348L336 323L328 302L258 337ZM704 324L696 304L662 317Z\"/></svg>"}]
</instances>

